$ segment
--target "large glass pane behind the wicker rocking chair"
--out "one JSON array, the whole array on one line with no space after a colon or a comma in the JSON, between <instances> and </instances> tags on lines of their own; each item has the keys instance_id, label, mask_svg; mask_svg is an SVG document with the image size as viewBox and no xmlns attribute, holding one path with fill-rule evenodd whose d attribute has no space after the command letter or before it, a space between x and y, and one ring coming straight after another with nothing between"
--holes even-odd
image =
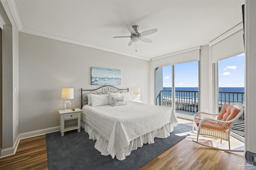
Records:
<instances>
[{"instance_id":1,"label":"large glass pane behind the wicker rocking chair","mask_svg":"<svg viewBox=\"0 0 256 170\"><path fill-rule=\"evenodd\" d=\"M218 62L219 112L224 103L241 102L244 106L244 54ZM236 121L232 132L244 137L244 113Z\"/></svg>"}]
</instances>

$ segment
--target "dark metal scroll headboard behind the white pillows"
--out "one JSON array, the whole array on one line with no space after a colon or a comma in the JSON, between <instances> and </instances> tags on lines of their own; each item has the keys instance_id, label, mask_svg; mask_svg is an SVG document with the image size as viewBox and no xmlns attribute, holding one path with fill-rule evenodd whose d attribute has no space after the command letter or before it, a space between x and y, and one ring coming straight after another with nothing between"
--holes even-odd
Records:
<instances>
[{"instance_id":1,"label":"dark metal scroll headboard behind the white pillows","mask_svg":"<svg viewBox=\"0 0 256 170\"><path fill-rule=\"evenodd\" d=\"M101 86L100 88L94 90L83 90L81 88L81 109L84 105L88 104L88 94L108 94L108 92L112 93L123 93L129 92L129 88L126 89L119 89L114 86Z\"/></svg>"}]
</instances>

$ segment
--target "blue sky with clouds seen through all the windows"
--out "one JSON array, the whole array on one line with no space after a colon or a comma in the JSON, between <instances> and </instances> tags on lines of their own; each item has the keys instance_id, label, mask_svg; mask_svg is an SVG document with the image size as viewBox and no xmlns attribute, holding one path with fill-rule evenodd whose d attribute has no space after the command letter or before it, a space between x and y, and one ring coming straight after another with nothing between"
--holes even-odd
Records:
<instances>
[{"instance_id":1,"label":"blue sky with clouds seen through all the windows","mask_svg":"<svg viewBox=\"0 0 256 170\"><path fill-rule=\"evenodd\" d=\"M219 87L244 87L244 54L218 62ZM163 67L163 85L172 87L172 66ZM176 87L198 87L198 61L175 65Z\"/></svg>"}]
</instances>

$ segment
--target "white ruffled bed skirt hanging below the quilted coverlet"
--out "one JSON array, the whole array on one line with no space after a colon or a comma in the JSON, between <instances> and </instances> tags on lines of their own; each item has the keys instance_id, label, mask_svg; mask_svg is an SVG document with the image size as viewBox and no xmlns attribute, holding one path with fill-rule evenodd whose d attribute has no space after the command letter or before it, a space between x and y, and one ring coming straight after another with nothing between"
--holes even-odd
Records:
<instances>
[{"instance_id":1,"label":"white ruffled bed skirt hanging below the quilted coverlet","mask_svg":"<svg viewBox=\"0 0 256 170\"><path fill-rule=\"evenodd\" d=\"M167 138L170 136L170 132L174 130L174 126L178 125L178 122L175 124L168 123L162 126L159 129L146 133L132 141L130 141L130 145L127 147L118 150L115 155L111 155L112 158L116 156L118 160L124 160L126 156L129 156L132 150L136 150L139 147L142 147L143 144L152 144L154 143L154 138ZM89 134L89 139L96 140L94 147L101 152L102 155L110 155L108 152L108 141L102 137L97 131L95 131L90 125L81 121L81 127Z\"/></svg>"}]
</instances>

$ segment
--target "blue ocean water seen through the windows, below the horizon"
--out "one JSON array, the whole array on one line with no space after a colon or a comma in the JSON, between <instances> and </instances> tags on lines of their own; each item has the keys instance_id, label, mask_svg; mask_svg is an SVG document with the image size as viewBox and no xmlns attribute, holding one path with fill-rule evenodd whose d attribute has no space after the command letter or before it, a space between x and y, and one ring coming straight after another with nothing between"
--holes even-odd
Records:
<instances>
[{"instance_id":1,"label":"blue ocean water seen through the windows, below the horizon","mask_svg":"<svg viewBox=\"0 0 256 170\"><path fill-rule=\"evenodd\" d=\"M163 90L172 90L171 87L164 87ZM175 88L176 98L194 98L196 96L196 101L198 101L198 87L176 87ZM177 92L184 91L184 92ZM186 93L187 91L193 91L191 93ZM194 93L196 92L196 93ZM228 93L230 92L230 93ZM165 94L163 97L171 97L172 94ZM220 87L219 88L219 101L231 101L231 102L242 102L244 104L244 88L243 87Z\"/></svg>"}]
</instances>

